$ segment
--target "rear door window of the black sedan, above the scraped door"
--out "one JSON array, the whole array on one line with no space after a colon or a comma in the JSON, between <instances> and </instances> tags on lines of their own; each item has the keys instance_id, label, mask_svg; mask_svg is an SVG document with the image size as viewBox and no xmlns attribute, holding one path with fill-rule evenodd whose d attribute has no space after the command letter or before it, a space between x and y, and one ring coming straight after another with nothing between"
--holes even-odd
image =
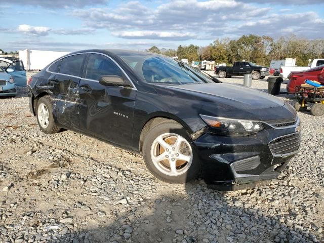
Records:
<instances>
[{"instance_id":1,"label":"rear door window of the black sedan, above the scraped door","mask_svg":"<svg viewBox=\"0 0 324 243\"><path fill-rule=\"evenodd\" d=\"M80 77L82 76L83 61L86 54L77 54L62 59L60 73Z\"/></svg>"}]
</instances>

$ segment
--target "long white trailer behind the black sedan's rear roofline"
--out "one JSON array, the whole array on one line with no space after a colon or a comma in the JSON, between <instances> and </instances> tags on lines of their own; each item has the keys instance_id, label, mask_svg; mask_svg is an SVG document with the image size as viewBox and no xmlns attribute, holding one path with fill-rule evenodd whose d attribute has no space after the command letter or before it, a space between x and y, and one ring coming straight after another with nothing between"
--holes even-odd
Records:
<instances>
[{"instance_id":1,"label":"long white trailer behind the black sedan's rear roofline","mask_svg":"<svg viewBox=\"0 0 324 243\"><path fill-rule=\"evenodd\" d=\"M24 63L26 70L42 70L55 59L69 52L53 52L25 49L19 51L19 60Z\"/></svg>"}]
</instances>

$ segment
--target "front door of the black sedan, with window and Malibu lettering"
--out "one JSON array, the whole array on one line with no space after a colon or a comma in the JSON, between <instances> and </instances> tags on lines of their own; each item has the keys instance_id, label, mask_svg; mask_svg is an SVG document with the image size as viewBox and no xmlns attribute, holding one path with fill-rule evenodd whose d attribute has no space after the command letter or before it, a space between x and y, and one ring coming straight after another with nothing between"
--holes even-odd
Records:
<instances>
[{"instance_id":1,"label":"front door of the black sedan, with window and Malibu lettering","mask_svg":"<svg viewBox=\"0 0 324 243\"><path fill-rule=\"evenodd\" d=\"M81 131L131 147L135 87L103 86L102 75L117 75L129 82L126 74L108 56L90 54L84 77L80 80L79 128Z\"/></svg>"}]
</instances>

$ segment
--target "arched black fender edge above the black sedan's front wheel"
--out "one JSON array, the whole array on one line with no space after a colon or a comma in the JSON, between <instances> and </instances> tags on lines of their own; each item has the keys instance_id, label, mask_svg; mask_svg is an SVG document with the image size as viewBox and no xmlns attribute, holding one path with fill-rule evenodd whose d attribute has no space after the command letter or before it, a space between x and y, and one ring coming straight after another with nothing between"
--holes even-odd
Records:
<instances>
[{"instance_id":1,"label":"arched black fender edge above the black sedan's front wheel","mask_svg":"<svg viewBox=\"0 0 324 243\"><path fill-rule=\"evenodd\" d=\"M152 113L152 114L150 114L150 116L147 117L147 119L141 129L141 134L140 134L140 138L139 138L139 142L138 142L138 146L139 146L138 148L139 148L140 152L142 152L144 139L145 139L146 135L148 134L148 132L150 131L150 129L153 128L154 126L156 126L157 124L160 124L166 120L173 120L176 123L180 124L182 127L184 127L187 130L189 135L192 133L192 130L190 129L190 127L178 116L171 114L171 113L166 113L166 112Z\"/></svg>"}]
</instances>

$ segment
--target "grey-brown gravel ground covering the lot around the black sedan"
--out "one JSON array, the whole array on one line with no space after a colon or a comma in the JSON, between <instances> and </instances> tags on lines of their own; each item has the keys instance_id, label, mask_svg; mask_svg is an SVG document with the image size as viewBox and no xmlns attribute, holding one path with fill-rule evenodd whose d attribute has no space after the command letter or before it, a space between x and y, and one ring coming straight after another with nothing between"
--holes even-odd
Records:
<instances>
[{"instance_id":1,"label":"grey-brown gravel ground covering the lot around the black sedan","mask_svg":"<svg viewBox=\"0 0 324 243\"><path fill-rule=\"evenodd\" d=\"M0 98L0 242L324 242L324 116L299 116L286 180L218 192L160 182L141 156L99 140L42 133L19 89Z\"/></svg>"}]
</instances>

